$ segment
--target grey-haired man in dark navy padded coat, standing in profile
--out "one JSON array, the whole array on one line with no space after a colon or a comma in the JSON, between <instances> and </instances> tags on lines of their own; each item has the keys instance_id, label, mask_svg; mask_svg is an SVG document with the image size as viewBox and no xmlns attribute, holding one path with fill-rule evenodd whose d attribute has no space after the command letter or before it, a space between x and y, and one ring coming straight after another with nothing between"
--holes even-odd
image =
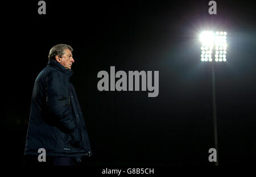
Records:
<instances>
[{"instance_id":1,"label":"grey-haired man in dark navy padded coat, standing in profile","mask_svg":"<svg viewBox=\"0 0 256 177\"><path fill-rule=\"evenodd\" d=\"M75 165L82 156L92 155L84 116L69 82L72 52L66 44L52 47L48 65L35 80L24 150L32 163L39 163L40 148L46 150L50 165Z\"/></svg>"}]
</instances>

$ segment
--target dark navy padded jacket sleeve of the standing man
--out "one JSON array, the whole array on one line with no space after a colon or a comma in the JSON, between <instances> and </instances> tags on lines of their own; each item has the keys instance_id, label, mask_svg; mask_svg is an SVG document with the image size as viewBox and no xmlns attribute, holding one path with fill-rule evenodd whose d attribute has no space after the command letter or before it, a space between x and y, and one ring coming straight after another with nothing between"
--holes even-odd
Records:
<instances>
[{"instance_id":1,"label":"dark navy padded jacket sleeve of the standing man","mask_svg":"<svg viewBox=\"0 0 256 177\"><path fill-rule=\"evenodd\" d=\"M71 135L72 144L77 145L80 142L79 133L68 99L68 85L61 73L55 71L49 74L46 80L46 105L59 126Z\"/></svg>"}]
</instances>

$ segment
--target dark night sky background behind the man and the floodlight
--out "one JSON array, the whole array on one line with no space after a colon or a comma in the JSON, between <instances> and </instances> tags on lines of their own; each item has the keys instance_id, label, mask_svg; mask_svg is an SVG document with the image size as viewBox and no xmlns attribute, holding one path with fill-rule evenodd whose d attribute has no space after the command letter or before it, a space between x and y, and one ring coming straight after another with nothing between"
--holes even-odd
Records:
<instances>
[{"instance_id":1,"label":"dark night sky background behind the man and the floodlight","mask_svg":"<svg viewBox=\"0 0 256 177\"><path fill-rule=\"evenodd\" d=\"M200 61L199 33L228 32L227 62L217 63L220 165L256 162L255 1L38 1L3 6L7 57L2 75L6 164L24 164L34 81L49 49L75 50L72 83L85 116L94 165L213 165L212 75ZM159 95L98 91L97 73L159 71ZM117 79L116 79L117 80Z\"/></svg>"}]
</instances>

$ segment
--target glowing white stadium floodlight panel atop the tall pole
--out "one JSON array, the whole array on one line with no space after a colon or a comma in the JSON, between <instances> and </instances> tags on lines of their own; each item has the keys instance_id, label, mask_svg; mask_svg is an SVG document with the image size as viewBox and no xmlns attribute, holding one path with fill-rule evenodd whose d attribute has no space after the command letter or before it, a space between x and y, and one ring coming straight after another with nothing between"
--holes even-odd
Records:
<instances>
[{"instance_id":1,"label":"glowing white stadium floodlight panel atop the tall pole","mask_svg":"<svg viewBox=\"0 0 256 177\"><path fill-rule=\"evenodd\" d=\"M223 31L203 31L200 34L201 41L201 61L226 61L226 35ZM213 54L215 60L209 60L207 57L203 59L202 54ZM224 60L225 54L225 60ZM210 58L210 57L209 57Z\"/></svg>"}]
</instances>

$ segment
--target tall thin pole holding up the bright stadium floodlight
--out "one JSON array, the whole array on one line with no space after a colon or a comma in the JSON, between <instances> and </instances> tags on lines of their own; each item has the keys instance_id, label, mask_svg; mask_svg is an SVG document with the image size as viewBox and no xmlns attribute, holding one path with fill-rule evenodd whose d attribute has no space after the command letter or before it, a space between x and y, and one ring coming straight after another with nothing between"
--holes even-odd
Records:
<instances>
[{"instance_id":1,"label":"tall thin pole holding up the bright stadium floodlight","mask_svg":"<svg viewBox=\"0 0 256 177\"><path fill-rule=\"evenodd\" d=\"M212 62L212 101L213 101L212 105L213 105L214 146L215 146L215 149L216 149L216 152L217 152L217 162L215 162L215 166L218 166L218 133L217 133L214 62Z\"/></svg>"}]
</instances>

